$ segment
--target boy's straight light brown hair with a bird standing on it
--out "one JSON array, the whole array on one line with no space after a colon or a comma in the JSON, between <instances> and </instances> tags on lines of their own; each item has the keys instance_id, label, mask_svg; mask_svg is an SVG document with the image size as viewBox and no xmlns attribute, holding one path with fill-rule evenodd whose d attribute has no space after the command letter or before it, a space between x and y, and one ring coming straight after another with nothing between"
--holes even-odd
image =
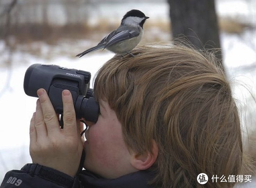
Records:
<instances>
[{"instance_id":1,"label":"boy's straight light brown hair with a bird standing on it","mask_svg":"<svg viewBox=\"0 0 256 188\"><path fill-rule=\"evenodd\" d=\"M151 183L200 187L199 173L237 175L242 161L238 110L214 59L182 46L144 46L133 54L106 62L94 91L96 100L116 114L127 151L157 157L149 166L155 172Z\"/></svg>"}]
</instances>

